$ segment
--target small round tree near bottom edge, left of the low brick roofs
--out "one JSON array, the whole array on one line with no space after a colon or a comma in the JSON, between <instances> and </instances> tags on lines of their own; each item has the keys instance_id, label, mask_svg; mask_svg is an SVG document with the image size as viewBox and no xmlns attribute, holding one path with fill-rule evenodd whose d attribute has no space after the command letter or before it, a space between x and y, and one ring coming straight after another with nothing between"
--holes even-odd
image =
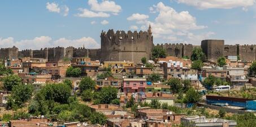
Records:
<instances>
[{"instance_id":1,"label":"small round tree near bottom edge, left of the low brick roofs","mask_svg":"<svg viewBox=\"0 0 256 127\"><path fill-rule=\"evenodd\" d=\"M92 124L104 125L107 122L107 117L101 112L94 112L93 115L89 117Z\"/></svg>"}]
</instances>

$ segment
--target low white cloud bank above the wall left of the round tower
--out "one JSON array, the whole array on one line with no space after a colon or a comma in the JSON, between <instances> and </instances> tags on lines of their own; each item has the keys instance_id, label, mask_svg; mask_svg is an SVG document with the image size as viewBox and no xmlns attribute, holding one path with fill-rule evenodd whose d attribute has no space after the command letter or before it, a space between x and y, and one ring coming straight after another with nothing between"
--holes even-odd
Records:
<instances>
[{"instance_id":1,"label":"low white cloud bank above the wall left of the round tower","mask_svg":"<svg viewBox=\"0 0 256 127\"><path fill-rule=\"evenodd\" d=\"M25 40L19 40L19 41L14 41L14 38L9 37L2 39L0 38L0 46L3 48L7 47L12 47L16 46L20 50L21 49L41 49L45 47L83 47L85 48L99 48L100 45L99 43L96 42L91 37L82 37L80 39L66 39L66 38L60 38L57 40L53 40L51 37L48 36L41 36L41 37L36 37L33 39L25 39Z\"/></svg>"}]
</instances>

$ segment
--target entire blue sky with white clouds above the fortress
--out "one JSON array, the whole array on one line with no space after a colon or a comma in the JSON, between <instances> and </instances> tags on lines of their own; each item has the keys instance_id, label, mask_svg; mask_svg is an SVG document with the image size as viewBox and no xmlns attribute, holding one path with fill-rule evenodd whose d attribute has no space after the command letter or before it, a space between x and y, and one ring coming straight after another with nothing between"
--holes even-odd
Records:
<instances>
[{"instance_id":1,"label":"entire blue sky with white clouds above the fortress","mask_svg":"<svg viewBox=\"0 0 256 127\"><path fill-rule=\"evenodd\" d=\"M101 30L146 30L154 43L255 44L255 0L2 0L0 47L99 48Z\"/></svg>"}]
</instances>

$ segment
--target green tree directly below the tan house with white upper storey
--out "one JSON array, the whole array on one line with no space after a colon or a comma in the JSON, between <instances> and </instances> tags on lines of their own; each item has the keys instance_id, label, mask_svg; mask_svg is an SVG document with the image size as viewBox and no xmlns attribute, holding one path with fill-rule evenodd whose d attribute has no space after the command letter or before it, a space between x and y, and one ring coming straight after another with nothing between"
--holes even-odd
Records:
<instances>
[{"instance_id":1,"label":"green tree directly below the tan house with white upper storey","mask_svg":"<svg viewBox=\"0 0 256 127\"><path fill-rule=\"evenodd\" d=\"M183 88L179 78L170 78L166 83L170 85L172 93L179 93Z\"/></svg>"}]
</instances>

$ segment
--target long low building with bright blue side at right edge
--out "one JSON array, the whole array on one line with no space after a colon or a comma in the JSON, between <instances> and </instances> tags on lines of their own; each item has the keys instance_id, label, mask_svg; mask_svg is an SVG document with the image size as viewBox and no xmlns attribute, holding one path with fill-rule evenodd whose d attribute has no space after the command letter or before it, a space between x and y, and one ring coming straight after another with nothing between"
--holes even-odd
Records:
<instances>
[{"instance_id":1,"label":"long low building with bright blue side at right edge","mask_svg":"<svg viewBox=\"0 0 256 127\"><path fill-rule=\"evenodd\" d=\"M209 96L209 95L206 96L206 103L208 105L215 105L215 106L222 106L222 107L236 106L236 107L240 107L240 109L243 109L243 110L245 110L246 108L246 101L253 101L253 99Z\"/></svg>"}]
</instances>

